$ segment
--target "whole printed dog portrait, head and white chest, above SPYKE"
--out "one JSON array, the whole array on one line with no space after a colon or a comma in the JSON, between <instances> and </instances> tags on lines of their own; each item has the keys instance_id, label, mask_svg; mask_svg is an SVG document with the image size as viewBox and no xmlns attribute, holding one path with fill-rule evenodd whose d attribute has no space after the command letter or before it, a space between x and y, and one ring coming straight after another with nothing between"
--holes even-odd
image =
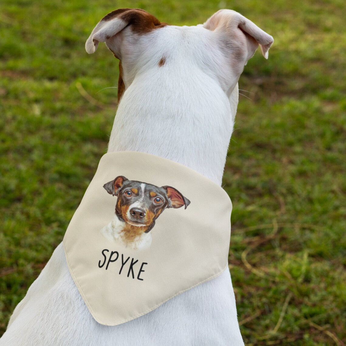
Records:
<instances>
[{"instance_id":1,"label":"whole printed dog portrait, head and white chest, above SPYKE","mask_svg":"<svg viewBox=\"0 0 346 346\"><path fill-rule=\"evenodd\" d=\"M185 209L190 201L172 186L155 186L124 176L103 185L117 196L115 215L101 233L109 240L133 249L147 249L152 242L150 231L156 219L166 208Z\"/></svg>"}]
</instances>

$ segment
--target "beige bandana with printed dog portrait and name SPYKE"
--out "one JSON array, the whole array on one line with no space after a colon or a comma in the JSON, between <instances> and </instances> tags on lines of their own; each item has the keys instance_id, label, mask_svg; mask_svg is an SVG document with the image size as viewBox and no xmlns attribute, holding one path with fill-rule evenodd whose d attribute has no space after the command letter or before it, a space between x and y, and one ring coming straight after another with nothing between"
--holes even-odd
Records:
<instances>
[{"instance_id":1,"label":"beige bandana with printed dog portrait and name SPYKE","mask_svg":"<svg viewBox=\"0 0 346 346\"><path fill-rule=\"evenodd\" d=\"M105 154L64 236L96 321L118 325L228 266L232 204L203 175L164 158Z\"/></svg>"}]
</instances>

